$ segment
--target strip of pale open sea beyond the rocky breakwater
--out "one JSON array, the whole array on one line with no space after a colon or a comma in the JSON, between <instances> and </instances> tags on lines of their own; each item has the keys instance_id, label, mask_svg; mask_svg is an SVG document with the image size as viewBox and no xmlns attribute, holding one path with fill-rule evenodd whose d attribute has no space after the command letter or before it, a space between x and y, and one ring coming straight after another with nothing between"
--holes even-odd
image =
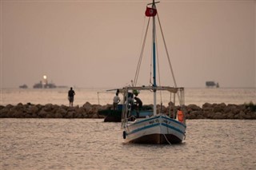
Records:
<instances>
[{"instance_id":1,"label":"strip of pale open sea beyond the rocky breakwater","mask_svg":"<svg viewBox=\"0 0 256 170\"><path fill-rule=\"evenodd\" d=\"M33 104L69 105L67 92L69 89L1 89L1 105L17 105L22 102ZM75 89L74 105L84 105L86 101L91 104L112 104L113 93L103 93L106 89ZM100 93L98 93L100 92ZM139 94L143 104L153 103L153 94L141 91ZM158 96L158 101L161 97ZM244 104L253 101L256 103L256 89L185 89L186 105L202 106L204 103ZM162 93L163 105L170 101L169 93Z\"/></svg>"}]
</instances>

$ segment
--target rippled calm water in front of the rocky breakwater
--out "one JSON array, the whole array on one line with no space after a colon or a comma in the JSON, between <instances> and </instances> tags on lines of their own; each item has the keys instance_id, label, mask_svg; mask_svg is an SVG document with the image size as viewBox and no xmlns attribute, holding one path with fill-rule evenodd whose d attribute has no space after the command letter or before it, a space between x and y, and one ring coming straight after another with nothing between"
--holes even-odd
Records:
<instances>
[{"instance_id":1,"label":"rippled calm water in front of the rocky breakwater","mask_svg":"<svg viewBox=\"0 0 256 170\"><path fill-rule=\"evenodd\" d=\"M102 119L0 119L1 169L255 169L256 121L188 120L176 145L124 144Z\"/></svg>"}]
</instances>

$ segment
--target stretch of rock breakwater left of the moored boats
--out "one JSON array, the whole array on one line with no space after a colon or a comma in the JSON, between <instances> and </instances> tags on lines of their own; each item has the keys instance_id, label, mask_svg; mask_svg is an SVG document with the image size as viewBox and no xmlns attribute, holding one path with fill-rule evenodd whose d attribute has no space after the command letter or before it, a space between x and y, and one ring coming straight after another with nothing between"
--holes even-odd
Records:
<instances>
[{"instance_id":1,"label":"stretch of rock breakwater left of the moored boats","mask_svg":"<svg viewBox=\"0 0 256 170\"><path fill-rule=\"evenodd\" d=\"M66 105L0 105L0 118L103 118L98 115L101 105L91 105L89 102L82 107Z\"/></svg>"}]
</instances>

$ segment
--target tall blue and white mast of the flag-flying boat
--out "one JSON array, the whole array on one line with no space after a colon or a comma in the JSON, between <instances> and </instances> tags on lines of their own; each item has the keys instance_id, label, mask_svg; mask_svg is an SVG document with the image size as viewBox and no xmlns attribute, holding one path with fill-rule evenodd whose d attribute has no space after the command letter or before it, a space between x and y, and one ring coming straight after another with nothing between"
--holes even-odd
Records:
<instances>
[{"instance_id":1,"label":"tall blue and white mast of the flag-flying boat","mask_svg":"<svg viewBox=\"0 0 256 170\"><path fill-rule=\"evenodd\" d=\"M152 3L152 8L153 9L156 9L156 6L155 6L155 2L153 0L153 3ZM153 86L156 87L157 86L157 81L156 81L156 50L155 50L155 16L153 16ZM156 93L156 90L154 90L154 116L157 115L157 93Z\"/></svg>"}]
</instances>

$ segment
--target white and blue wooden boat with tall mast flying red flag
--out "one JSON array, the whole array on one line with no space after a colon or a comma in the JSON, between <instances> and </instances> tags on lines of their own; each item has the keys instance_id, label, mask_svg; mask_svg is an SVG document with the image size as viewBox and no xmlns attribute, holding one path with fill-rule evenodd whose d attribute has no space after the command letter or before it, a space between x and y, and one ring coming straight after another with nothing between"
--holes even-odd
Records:
<instances>
[{"instance_id":1,"label":"white and blue wooden boat with tall mast flying red flag","mask_svg":"<svg viewBox=\"0 0 256 170\"><path fill-rule=\"evenodd\" d=\"M150 85L137 85L138 83L138 73L140 69L140 65L142 63L141 57L139 59L138 69L135 73L135 78L132 83L132 85L127 85L123 88L118 89L120 93L123 95L122 100L122 136L124 139L124 142L126 143L136 143L136 144L178 144L182 143L183 140L186 138L186 115L184 110L185 100L184 100L184 88L178 87L175 77L174 77L174 71L172 69L171 63L170 63L170 57L168 50L166 48L166 42L165 38L163 36L162 32L162 26L159 21L158 17L158 11L156 8L156 3L153 2L150 4L147 4L146 6L146 17L149 18L148 20L148 26L146 28L146 33L144 40L146 39L146 34L148 33L149 23L150 20L152 20L152 34L153 34L153 43L152 43L152 68L151 71L153 72L151 80L153 83L150 83ZM150 7L149 7L150 6ZM158 76L157 79L157 59L159 56L157 56L157 45L156 45L156 20L158 19L159 28L162 33L162 40L163 44L166 48L166 56L167 61L170 66L170 73L172 80L174 81L173 86L162 86L160 82L157 84L157 80L160 79L160 76ZM143 46L145 46L145 42L142 44L142 50L144 49ZM150 72L151 72L150 71ZM159 73L159 72L158 72ZM151 74L150 74L151 75ZM146 90L147 93L152 93L150 96L153 98L153 115L152 116L146 116L145 118L137 118L131 119L134 117L131 115L131 109L132 109L132 103L129 100L129 94L134 93L134 91L142 92ZM170 93L170 102L169 113L162 113L161 109L157 110L157 101L158 100L158 94L160 93ZM160 97L159 97L160 98ZM175 105L176 98L178 98L178 106ZM133 100L131 100L133 101ZM160 102L162 104L162 101ZM161 105L160 104L160 105Z\"/></svg>"}]
</instances>

